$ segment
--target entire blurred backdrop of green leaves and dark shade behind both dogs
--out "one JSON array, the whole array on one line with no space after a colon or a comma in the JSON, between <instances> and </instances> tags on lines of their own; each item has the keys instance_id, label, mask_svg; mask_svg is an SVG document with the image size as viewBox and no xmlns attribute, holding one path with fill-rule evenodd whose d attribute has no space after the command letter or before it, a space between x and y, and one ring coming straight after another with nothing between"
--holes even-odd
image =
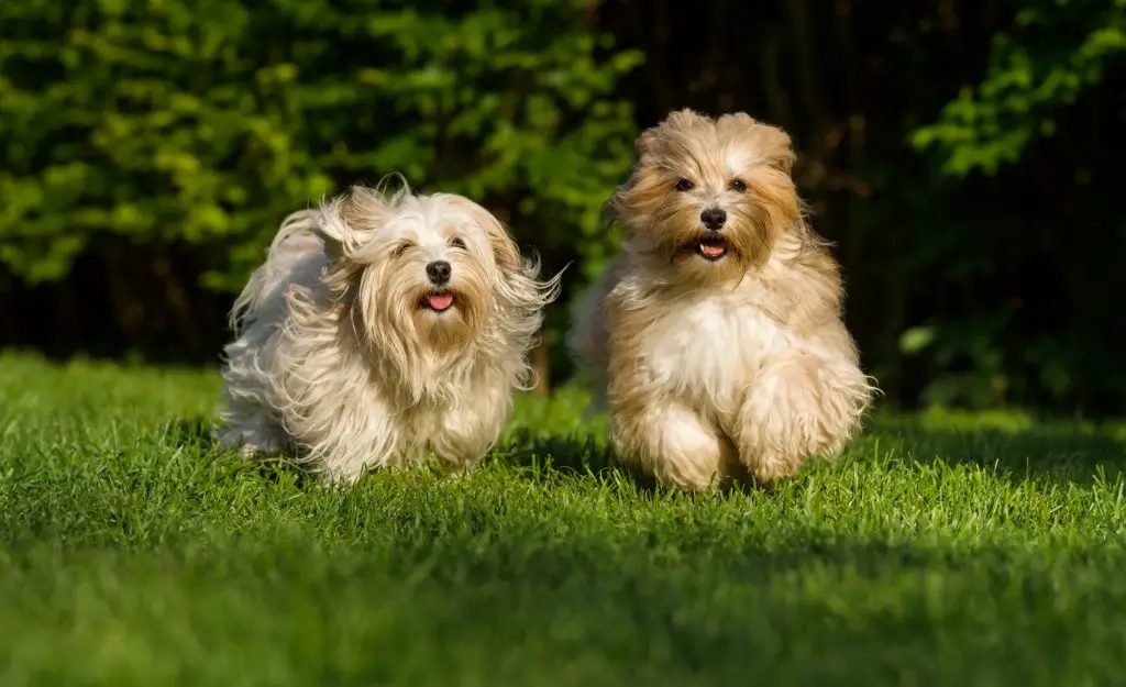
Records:
<instances>
[{"instance_id":1,"label":"entire blurred backdrop of green leaves and dark shade behind both dogs","mask_svg":"<svg viewBox=\"0 0 1126 687\"><path fill-rule=\"evenodd\" d=\"M1126 403L1126 0L0 3L3 344L214 359L279 218L402 172L574 262L670 109L786 127L893 405Z\"/></svg>"}]
</instances>

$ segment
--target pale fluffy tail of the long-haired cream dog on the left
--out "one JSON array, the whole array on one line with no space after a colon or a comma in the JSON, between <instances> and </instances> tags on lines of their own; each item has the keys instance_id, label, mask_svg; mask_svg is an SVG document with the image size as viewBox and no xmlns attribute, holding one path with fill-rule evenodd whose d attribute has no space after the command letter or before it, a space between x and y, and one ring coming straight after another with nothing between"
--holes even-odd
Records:
<instances>
[{"instance_id":1,"label":"pale fluffy tail of the long-haired cream dog on the left","mask_svg":"<svg viewBox=\"0 0 1126 687\"><path fill-rule=\"evenodd\" d=\"M323 252L321 239L315 233L320 217L319 209L300 209L282 221L266 253L266 261L250 275L245 288L231 307L230 324L235 333L256 319L256 313L271 293L284 287L298 261L311 252Z\"/></svg>"}]
</instances>

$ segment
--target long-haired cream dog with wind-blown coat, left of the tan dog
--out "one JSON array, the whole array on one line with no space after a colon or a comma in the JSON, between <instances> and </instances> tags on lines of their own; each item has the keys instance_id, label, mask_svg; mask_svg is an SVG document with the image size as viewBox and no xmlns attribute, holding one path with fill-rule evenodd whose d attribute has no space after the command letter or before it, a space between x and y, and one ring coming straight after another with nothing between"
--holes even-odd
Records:
<instances>
[{"instance_id":1,"label":"long-haired cream dog with wind-blown coat, left of the tan dog","mask_svg":"<svg viewBox=\"0 0 1126 687\"><path fill-rule=\"evenodd\" d=\"M354 187L289 215L232 310L221 445L349 481L427 447L472 466L556 297L538 273L457 195Z\"/></svg>"}]
</instances>

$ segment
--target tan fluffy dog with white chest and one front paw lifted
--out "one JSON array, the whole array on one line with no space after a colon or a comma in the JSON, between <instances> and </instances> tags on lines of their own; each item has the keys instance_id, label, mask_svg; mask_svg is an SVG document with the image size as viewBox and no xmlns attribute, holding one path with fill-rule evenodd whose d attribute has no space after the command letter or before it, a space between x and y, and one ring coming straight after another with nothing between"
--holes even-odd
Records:
<instances>
[{"instance_id":1,"label":"tan fluffy dog with white chest and one front paw lifted","mask_svg":"<svg viewBox=\"0 0 1126 687\"><path fill-rule=\"evenodd\" d=\"M838 453L875 390L789 136L743 113L682 110L636 148L607 203L622 250L570 337L602 383L616 453L686 489L771 482Z\"/></svg>"}]
</instances>

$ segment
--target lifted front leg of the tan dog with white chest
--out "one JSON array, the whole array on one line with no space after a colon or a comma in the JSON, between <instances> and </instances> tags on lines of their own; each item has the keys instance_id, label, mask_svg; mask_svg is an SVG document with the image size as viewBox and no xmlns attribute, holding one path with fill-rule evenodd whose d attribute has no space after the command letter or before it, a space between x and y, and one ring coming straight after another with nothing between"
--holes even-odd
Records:
<instances>
[{"instance_id":1,"label":"lifted front leg of the tan dog with white chest","mask_svg":"<svg viewBox=\"0 0 1126 687\"><path fill-rule=\"evenodd\" d=\"M832 454L859 426L869 387L847 360L794 350L758 372L732 428L742 463L765 482Z\"/></svg>"}]
</instances>

